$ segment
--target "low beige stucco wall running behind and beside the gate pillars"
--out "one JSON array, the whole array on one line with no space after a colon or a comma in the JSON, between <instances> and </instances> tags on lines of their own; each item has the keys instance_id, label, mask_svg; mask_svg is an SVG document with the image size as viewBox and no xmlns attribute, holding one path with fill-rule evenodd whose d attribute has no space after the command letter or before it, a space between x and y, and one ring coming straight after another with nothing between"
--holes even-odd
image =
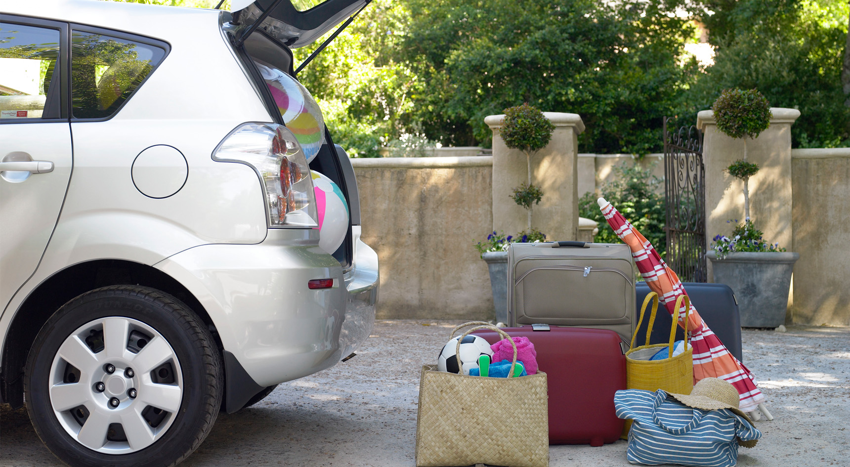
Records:
<instances>
[{"instance_id":1,"label":"low beige stucco wall running behind and beside the gate pillars","mask_svg":"<svg viewBox=\"0 0 850 467\"><path fill-rule=\"evenodd\" d=\"M792 221L784 230L791 239L783 244L800 253L800 260L788 321L850 325L850 149L792 150L790 158ZM639 163L660 159L650 154ZM380 259L377 317L492 319L490 277L472 245L493 225L493 158L388 157L352 163L363 240ZM610 168L620 163L635 160L579 155L579 194L608 181ZM657 163L654 173L663 177L663 165ZM762 185L780 183L766 179ZM735 189L723 191L734 194ZM769 206L757 212L761 209Z\"/></svg>"}]
</instances>

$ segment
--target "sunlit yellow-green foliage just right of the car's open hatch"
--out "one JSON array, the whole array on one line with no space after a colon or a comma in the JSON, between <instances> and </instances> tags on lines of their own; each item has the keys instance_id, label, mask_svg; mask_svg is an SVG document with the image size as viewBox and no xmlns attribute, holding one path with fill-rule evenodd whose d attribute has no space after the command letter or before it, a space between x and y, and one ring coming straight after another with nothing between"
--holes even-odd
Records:
<instances>
[{"instance_id":1,"label":"sunlit yellow-green foliage just right of the car's open hatch","mask_svg":"<svg viewBox=\"0 0 850 467\"><path fill-rule=\"evenodd\" d=\"M376 0L298 75L349 155L377 157L379 147L421 131L414 96L424 83L398 59L410 21L402 2ZM296 64L324 40L295 49Z\"/></svg>"}]
</instances>

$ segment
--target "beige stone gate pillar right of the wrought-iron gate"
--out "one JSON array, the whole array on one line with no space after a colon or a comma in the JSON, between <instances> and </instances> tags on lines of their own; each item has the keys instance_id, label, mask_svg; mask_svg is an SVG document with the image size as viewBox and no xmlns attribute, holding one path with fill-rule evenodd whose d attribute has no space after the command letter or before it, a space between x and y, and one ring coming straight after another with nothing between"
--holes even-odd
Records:
<instances>
[{"instance_id":1,"label":"beige stone gate pillar right of the wrought-iron gate","mask_svg":"<svg viewBox=\"0 0 850 467\"><path fill-rule=\"evenodd\" d=\"M750 216L764 239L791 251L791 124L800 117L796 109L771 108L768 129L747 140L747 162L758 164L750 179ZM724 170L744 157L744 140L733 139L717 129L713 111L700 111L697 128L704 134L703 163L706 168L706 246L714 236L729 235L728 219L744 221L744 182ZM710 247L709 247L710 248ZM713 277L711 261L708 276Z\"/></svg>"}]
</instances>

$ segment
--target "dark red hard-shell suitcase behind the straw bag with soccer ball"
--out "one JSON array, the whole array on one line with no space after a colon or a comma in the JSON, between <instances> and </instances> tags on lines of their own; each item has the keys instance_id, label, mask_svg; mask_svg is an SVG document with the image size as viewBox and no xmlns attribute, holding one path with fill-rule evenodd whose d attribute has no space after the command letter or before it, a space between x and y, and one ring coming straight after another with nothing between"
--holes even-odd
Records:
<instances>
[{"instance_id":1,"label":"dark red hard-shell suitcase behind the straw bag with soccer ball","mask_svg":"<svg viewBox=\"0 0 850 467\"><path fill-rule=\"evenodd\" d=\"M607 329L536 324L502 329L527 337L549 385L549 444L590 444L620 439L623 420L614 410L614 393L626 389L626 356L620 335ZM495 344L492 331L475 334Z\"/></svg>"}]
</instances>

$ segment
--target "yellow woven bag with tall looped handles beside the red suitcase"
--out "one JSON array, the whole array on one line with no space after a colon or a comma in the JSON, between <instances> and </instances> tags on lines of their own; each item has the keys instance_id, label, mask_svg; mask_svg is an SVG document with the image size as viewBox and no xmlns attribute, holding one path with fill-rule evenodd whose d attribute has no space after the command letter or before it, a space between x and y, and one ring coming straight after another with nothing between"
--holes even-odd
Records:
<instances>
[{"instance_id":1,"label":"yellow woven bag with tall looped handles beside the red suitcase","mask_svg":"<svg viewBox=\"0 0 850 467\"><path fill-rule=\"evenodd\" d=\"M646 307L652 301L652 312L649 314L649 324L646 328L646 343L635 347L635 339L638 339L638 329L643 322ZM676 299L675 310L681 310L685 305L685 350L677 355L662 359L649 360L661 347L667 347L667 355L673 354L673 345L676 342L676 326L678 320L672 320L670 327L670 342L667 344L649 345L649 334L655 323L655 313L658 311L658 293L650 292L643 299L640 309L638 326L632 335L632 349L626 352L626 388L639 390L666 390L674 394L690 394L694 388L694 348L688 345L688 316L690 314L690 299L688 295L680 295ZM628 438L629 429L632 428L632 420L626 420L623 427L622 439Z\"/></svg>"}]
</instances>

